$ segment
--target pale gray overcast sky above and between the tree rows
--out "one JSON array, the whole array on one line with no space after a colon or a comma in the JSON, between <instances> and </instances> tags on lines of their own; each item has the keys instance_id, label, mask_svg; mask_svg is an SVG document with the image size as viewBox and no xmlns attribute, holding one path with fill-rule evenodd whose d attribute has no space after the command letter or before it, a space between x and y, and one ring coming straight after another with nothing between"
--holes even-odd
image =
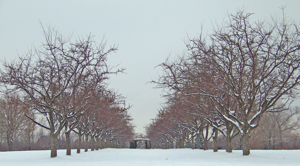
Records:
<instances>
[{"instance_id":1,"label":"pale gray overcast sky above and between the tree rows","mask_svg":"<svg viewBox=\"0 0 300 166\"><path fill-rule=\"evenodd\" d=\"M0 59L7 60L28 52L44 40L39 19L44 26L58 27L61 33L75 36L91 33L96 41L105 35L108 44L119 44L110 55L112 65L120 64L127 74L112 76L110 87L118 89L133 104L130 113L136 131L154 118L163 99L161 90L146 84L158 78L154 68L171 54L181 54L184 39L203 30L210 33L212 24L221 23L227 11L247 7L252 16L270 19L282 16L278 8L286 5L285 14L300 20L300 1L9 1L0 0Z\"/></svg>"}]
</instances>

